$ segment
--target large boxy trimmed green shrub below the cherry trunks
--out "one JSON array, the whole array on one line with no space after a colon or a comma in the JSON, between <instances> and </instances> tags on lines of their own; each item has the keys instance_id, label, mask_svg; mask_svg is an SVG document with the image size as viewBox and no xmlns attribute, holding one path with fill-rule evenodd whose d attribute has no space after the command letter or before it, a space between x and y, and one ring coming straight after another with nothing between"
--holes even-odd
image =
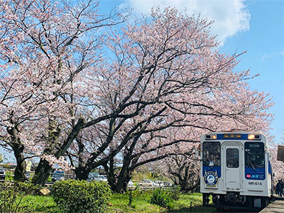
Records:
<instances>
[{"instance_id":1,"label":"large boxy trimmed green shrub below the cherry trunks","mask_svg":"<svg viewBox=\"0 0 284 213\"><path fill-rule=\"evenodd\" d=\"M107 182L61 180L53 185L52 195L62 212L107 212L111 190Z\"/></svg>"}]
</instances>

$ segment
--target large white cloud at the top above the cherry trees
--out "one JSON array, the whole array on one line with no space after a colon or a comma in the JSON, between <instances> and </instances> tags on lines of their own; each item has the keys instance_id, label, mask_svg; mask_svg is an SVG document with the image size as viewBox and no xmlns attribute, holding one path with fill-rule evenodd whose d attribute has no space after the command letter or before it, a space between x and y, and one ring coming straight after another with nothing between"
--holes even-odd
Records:
<instances>
[{"instance_id":1,"label":"large white cloud at the top above the cherry trees","mask_svg":"<svg viewBox=\"0 0 284 213\"><path fill-rule=\"evenodd\" d=\"M217 39L223 45L226 38L236 35L241 31L249 31L251 15L244 5L244 0L125 0L136 13L149 13L152 6L160 6L161 9L171 6L180 11L198 14L202 18L214 20L212 35L218 35Z\"/></svg>"}]
</instances>

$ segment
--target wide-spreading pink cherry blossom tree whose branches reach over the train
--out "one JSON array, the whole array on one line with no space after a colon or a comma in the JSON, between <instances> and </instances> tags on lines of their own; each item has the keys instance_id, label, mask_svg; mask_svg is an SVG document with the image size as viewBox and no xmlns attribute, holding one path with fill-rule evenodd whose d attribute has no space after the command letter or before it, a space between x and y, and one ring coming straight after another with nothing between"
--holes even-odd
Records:
<instances>
[{"instance_id":1,"label":"wide-spreading pink cherry blossom tree whose branches reach over the train","mask_svg":"<svg viewBox=\"0 0 284 213\"><path fill-rule=\"evenodd\" d=\"M111 186L120 191L134 168L186 153L201 133L268 129L271 100L249 89L248 71L234 71L239 55L216 50L209 26L175 9L153 9L150 20L109 37L111 58L93 78L101 109L115 115L83 133L92 139L82 137L88 146L80 142L84 160L78 143L77 178L103 165ZM119 174L117 161L122 163Z\"/></svg>"}]
</instances>

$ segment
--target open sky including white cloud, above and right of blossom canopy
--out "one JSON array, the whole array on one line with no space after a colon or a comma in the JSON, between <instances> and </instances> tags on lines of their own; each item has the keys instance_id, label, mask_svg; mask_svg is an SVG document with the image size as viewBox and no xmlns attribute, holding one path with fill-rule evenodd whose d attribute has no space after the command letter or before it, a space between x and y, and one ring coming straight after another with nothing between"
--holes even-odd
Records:
<instances>
[{"instance_id":1,"label":"open sky including white cloud, above and right of blossom canopy","mask_svg":"<svg viewBox=\"0 0 284 213\"><path fill-rule=\"evenodd\" d=\"M201 13L214 20L212 34L218 34L220 50L241 53L239 70L251 70L259 77L249 80L251 89L271 94L275 114L271 133L276 143L284 143L284 1L244 0L124 0L101 1L110 6L133 8L134 14L148 13L153 5L172 6L187 13Z\"/></svg>"}]
</instances>

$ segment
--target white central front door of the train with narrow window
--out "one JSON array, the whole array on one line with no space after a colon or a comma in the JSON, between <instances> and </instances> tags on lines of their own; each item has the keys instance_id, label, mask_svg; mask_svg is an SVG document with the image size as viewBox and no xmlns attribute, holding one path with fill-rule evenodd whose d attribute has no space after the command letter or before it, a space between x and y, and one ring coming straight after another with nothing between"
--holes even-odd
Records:
<instances>
[{"instance_id":1,"label":"white central front door of the train with narrow window","mask_svg":"<svg viewBox=\"0 0 284 213\"><path fill-rule=\"evenodd\" d=\"M241 190L241 143L223 144L224 190Z\"/></svg>"}]
</instances>

